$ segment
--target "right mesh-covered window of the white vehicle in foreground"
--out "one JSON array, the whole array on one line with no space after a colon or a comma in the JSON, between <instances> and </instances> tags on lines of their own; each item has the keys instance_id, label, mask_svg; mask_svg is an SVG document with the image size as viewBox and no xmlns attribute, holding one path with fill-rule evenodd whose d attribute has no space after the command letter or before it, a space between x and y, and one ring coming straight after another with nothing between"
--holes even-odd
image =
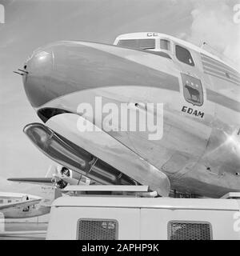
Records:
<instances>
[{"instance_id":1,"label":"right mesh-covered window of the white vehicle in foreground","mask_svg":"<svg viewBox=\"0 0 240 256\"><path fill-rule=\"evenodd\" d=\"M169 222L168 240L212 240L211 225L209 222Z\"/></svg>"}]
</instances>

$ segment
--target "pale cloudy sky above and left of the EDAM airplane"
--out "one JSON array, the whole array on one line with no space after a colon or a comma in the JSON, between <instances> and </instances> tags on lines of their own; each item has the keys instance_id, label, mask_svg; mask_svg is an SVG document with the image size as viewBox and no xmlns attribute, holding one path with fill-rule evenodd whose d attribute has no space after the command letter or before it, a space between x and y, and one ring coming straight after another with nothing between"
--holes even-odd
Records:
<instances>
[{"instance_id":1,"label":"pale cloudy sky above and left of the EDAM airplane","mask_svg":"<svg viewBox=\"0 0 240 256\"><path fill-rule=\"evenodd\" d=\"M10 177L42 177L50 164L22 133L41 122L14 74L33 50L58 40L113 43L118 34L166 33L226 55L240 67L236 0L6 0L0 24L0 191L21 191Z\"/></svg>"}]
</instances>

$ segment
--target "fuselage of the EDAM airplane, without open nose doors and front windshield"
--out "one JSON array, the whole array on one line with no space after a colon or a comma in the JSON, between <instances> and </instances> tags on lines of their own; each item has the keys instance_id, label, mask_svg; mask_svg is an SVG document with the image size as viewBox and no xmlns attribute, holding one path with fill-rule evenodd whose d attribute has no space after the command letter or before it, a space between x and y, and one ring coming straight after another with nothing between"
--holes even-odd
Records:
<instances>
[{"instance_id":1,"label":"fuselage of the EDAM airplane, without open nose doors and front windshield","mask_svg":"<svg viewBox=\"0 0 240 256\"><path fill-rule=\"evenodd\" d=\"M123 102L137 109L162 103L161 139L150 140L149 133L139 130L107 133L166 174L171 189L208 197L240 191L240 74L197 47L169 40L171 50L163 54L54 42L26 62L26 95L46 126L61 114L79 114L82 102L94 108L98 97L102 105L114 103L119 109ZM189 63L178 56L181 47L190 52ZM106 116L84 118L103 126ZM68 136L67 126L56 132ZM70 135L67 139L77 142Z\"/></svg>"}]
</instances>

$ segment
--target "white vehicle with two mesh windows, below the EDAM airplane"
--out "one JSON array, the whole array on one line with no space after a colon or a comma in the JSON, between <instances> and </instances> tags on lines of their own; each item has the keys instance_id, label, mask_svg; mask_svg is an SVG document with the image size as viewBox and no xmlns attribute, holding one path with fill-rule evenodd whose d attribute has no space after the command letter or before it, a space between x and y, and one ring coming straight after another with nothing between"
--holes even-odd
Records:
<instances>
[{"instance_id":1,"label":"white vehicle with two mesh windows, below the EDAM airplane","mask_svg":"<svg viewBox=\"0 0 240 256\"><path fill-rule=\"evenodd\" d=\"M239 193L228 194L229 199L152 198L147 186L66 186L65 190L85 194L53 202L46 239L240 239Z\"/></svg>"}]
</instances>

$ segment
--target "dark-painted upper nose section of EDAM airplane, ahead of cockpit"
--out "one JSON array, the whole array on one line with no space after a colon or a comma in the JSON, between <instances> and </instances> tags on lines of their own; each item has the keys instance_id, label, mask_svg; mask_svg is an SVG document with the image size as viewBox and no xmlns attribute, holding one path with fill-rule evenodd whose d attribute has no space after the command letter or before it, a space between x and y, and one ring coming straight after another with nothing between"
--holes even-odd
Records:
<instances>
[{"instance_id":1,"label":"dark-painted upper nose section of EDAM airplane, ahead of cockpit","mask_svg":"<svg viewBox=\"0 0 240 256\"><path fill-rule=\"evenodd\" d=\"M169 58L156 54L93 42L52 42L27 60L23 83L36 109L66 94L107 86L179 91L178 78L164 71L166 65L175 71Z\"/></svg>"}]
</instances>

